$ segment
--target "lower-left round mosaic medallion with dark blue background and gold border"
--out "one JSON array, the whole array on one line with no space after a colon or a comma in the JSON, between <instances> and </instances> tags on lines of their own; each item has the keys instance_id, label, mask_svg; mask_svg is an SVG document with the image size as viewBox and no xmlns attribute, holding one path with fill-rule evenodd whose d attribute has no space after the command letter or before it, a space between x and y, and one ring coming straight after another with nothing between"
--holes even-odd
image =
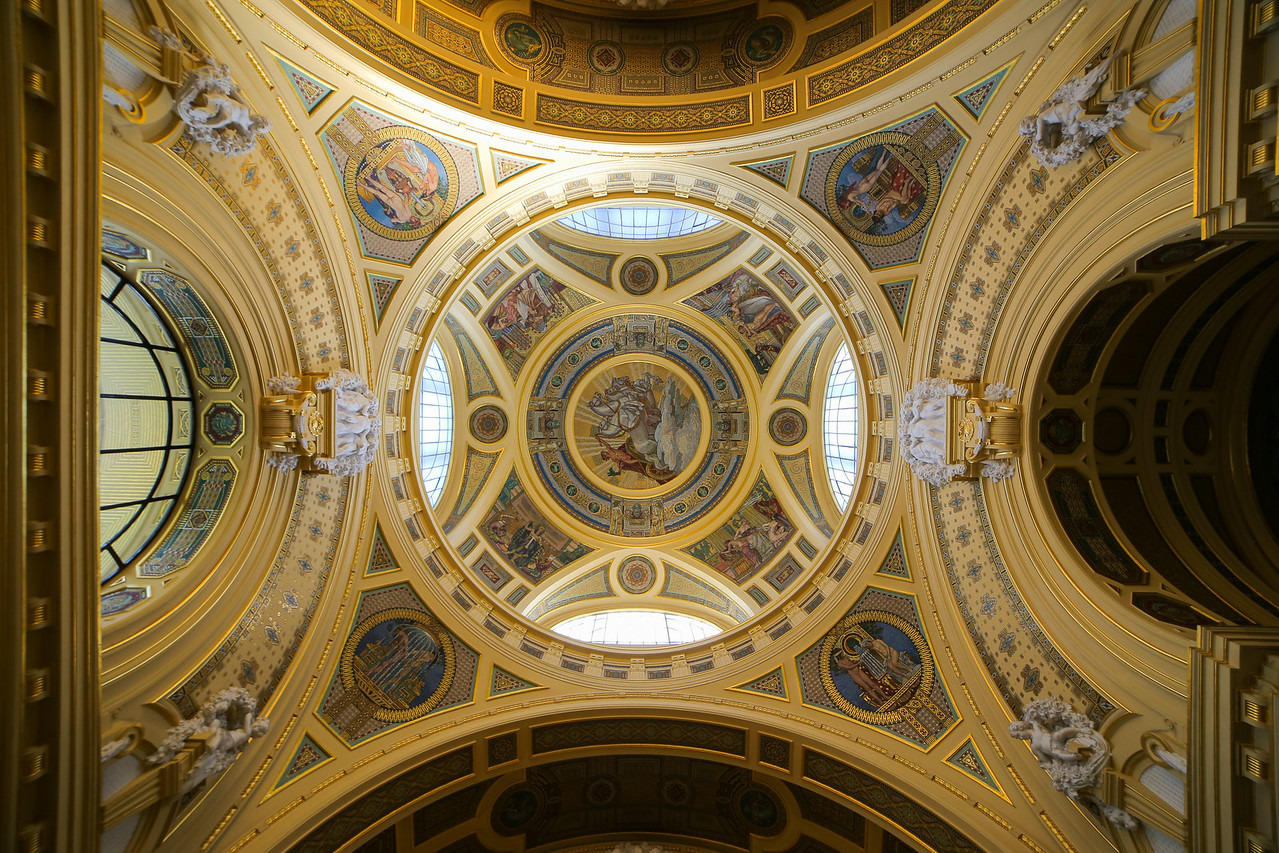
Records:
<instances>
[{"instance_id":1,"label":"lower-left round mosaic medallion with dark blue background and gold border","mask_svg":"<svg viewBox=\"0 0 1279 853\"><path fill-rule=\"evenodd\" d=\"M453 682L453 641L417 610L384 610L356 627L341 652L341 680L359 691L388 723L426 714Z\"/></svg>"}]
</instances>

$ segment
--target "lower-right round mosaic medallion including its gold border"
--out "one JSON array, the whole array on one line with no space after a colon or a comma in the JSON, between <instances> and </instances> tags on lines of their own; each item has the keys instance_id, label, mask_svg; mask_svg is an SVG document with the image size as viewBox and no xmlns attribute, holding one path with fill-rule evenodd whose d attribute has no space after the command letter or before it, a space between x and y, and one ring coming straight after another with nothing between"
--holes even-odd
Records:
<instances>
[{"instance_id":1,"label":"lower-right round mosaic medallion including its gold border","mask_svg":"<svg viewBox=\"0 0 1279 853\"><path fill-rule=\"evenodd\" d=\"M936 677L920 630L879 610L853 614L828 633L822 661L821 680L830 698L870 725L904 719L929 696Z\"/></svg>"}]
</instances>

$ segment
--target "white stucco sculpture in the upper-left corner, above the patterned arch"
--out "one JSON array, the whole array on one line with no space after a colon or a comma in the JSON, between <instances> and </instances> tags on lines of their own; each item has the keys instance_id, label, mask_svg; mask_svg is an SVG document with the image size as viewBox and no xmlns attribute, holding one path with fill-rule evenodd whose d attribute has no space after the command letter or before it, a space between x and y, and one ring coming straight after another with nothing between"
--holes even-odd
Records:
<instances>
[{"instance_id":1,"label":"white stucco sculpture in the upper-left corner, above the patterned arch","mask_svg":"<svg viewBox=\"0 0 1279 853\"><path fill-rule=\"evenodd\" d=\"M173 109L192 138L225 156L248 153L257 137L271 129L270 121L252 111L230 69L212 56L201 56L187 70Z\"/></svg>"}]
</instances>

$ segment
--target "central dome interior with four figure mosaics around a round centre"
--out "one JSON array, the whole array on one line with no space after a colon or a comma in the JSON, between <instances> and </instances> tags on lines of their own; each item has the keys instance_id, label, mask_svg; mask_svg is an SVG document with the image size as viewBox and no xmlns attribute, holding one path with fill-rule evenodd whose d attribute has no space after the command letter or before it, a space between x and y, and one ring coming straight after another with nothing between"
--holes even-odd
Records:
<instances>
[{"instance_id":1,"label":"central dome interior with four figure mosaics around a round centre","mask_svg":"<svg viewBox=\"0 0 1279 853\"><path fill-rule=\"evenodd\" d=\"M686 642L705 633L688 620L723 630L779 605L829 546L847 496L822 476L817 425L847 341L765 234L728 220L643 243L581 229L610 210L494 247L446 312L432 347L469 435L455 434L436 506L495 606L585 642L616 642L642 613L682 627L636 645Z\"/></svg>"}]
</instances>

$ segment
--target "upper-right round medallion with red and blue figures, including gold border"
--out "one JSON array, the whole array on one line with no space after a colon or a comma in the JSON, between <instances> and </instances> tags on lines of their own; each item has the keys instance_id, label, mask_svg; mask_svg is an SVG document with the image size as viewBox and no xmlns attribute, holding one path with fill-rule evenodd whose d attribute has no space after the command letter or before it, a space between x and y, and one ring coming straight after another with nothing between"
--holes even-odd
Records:
<instances>
[{"instance_id":1,"label":"upper-right round medallion with red and blue figures, including gold border","mask_svg":"<svg viewBox=\"0 0 1279 853\"><path fill-rule=\"evenodd\" d=\"M923 228L938 206L941 175L903 145L900 133L874 133L831 164L826 210L848 237L891 246Z\"/></svg>"}]
</instances>

